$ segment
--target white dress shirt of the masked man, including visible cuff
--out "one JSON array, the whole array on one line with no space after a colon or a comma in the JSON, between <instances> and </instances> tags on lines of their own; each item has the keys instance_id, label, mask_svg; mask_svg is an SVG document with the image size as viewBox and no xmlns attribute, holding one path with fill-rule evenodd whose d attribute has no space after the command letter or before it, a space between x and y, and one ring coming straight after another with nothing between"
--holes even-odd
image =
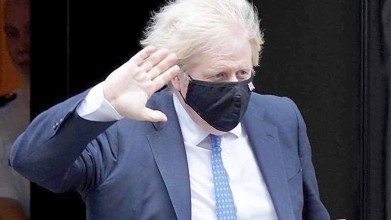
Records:
<instances>
[{"instance_id":1,"label":"white dress shirt of the masked man, including visible cuff","mask_svg":"<svg viewBox=\"0 0 391 220\"><path fill-rule=\"evenodd\" d=\"M191 220L215 220L215 196L209 133L197 125L173 95L175 111L184 137L191 192ZM93 87L77 113L91 121L122 118L103 96L103 84ZM247 134L239 123L222 135L221 157L227 171L236 220L278 220L265 181L258 168Z\"/></svg>"}]
</instances>

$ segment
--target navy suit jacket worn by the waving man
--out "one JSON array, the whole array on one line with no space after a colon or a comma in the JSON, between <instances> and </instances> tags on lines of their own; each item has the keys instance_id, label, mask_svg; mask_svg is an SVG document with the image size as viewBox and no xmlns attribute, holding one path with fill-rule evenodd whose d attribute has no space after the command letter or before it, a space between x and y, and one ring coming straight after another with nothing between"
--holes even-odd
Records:
<instances>
[{"instance_id":1,"label":"navy suit jacket worn by the waving man","mask_svg":"<svg viewBox=\"0 0 391 220\"><path fill-rule=\"evenodd\" d=\"M87 93L30 123L12 147L14 169L54 192L77 190L89 220L190 220L184 140L168 90L147 104L167 122L84 120L75 109ZM278 219L328 220L296 104L252 93L242 122Z\"/></svg>"}]
</instances>

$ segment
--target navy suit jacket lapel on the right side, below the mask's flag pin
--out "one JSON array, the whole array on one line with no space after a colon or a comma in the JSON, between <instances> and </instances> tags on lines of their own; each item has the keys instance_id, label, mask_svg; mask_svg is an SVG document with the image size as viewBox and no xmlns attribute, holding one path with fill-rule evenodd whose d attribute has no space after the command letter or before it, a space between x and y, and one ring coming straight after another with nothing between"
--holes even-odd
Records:
<instances>
[{"instance_id":1,"label":"navy suit jacket lapel on the right side, below the mask's flag pin","mask_svg":"<svg viewBox=\"0 0 391 220\"><path fill-rule=\"evenodd\" d=\"M279 220L295 219L277 128L262 120L263 109L249 103L243 118L255 158L266 182Z\"/></svg>"}]
</instances>

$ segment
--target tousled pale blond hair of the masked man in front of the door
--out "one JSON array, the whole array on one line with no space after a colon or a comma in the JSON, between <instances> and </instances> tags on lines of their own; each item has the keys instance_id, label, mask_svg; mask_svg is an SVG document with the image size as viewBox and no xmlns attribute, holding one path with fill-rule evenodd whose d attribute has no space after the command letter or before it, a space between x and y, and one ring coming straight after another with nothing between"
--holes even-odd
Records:
<instances>
[{"instance_id":1,"label":"tousled pale blond hair of the masked man in front of the door","mask_svg":"<svg viewBox=\"0 0 391 220\"><path fill-rule=\"evenodd\" d=\"M252 64L258 66L263 33L258 12L247 0L170 0L153 13L140 44L169 49L184 68L189 58L211 51L238 30L247 37Z\"/></svg>"}]
</instances>

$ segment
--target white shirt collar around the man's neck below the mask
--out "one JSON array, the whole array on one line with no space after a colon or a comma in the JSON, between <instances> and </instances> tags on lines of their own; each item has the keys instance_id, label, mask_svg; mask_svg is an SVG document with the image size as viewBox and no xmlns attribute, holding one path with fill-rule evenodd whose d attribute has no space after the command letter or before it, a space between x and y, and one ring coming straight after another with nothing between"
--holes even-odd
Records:
<instances>
[{"instance_id":1,"label":"white shirt collar around the man's neck below the mask","mask_svg":"<svg viewBox=\"0 0 391 220\"><path fill-rule=\"evenodd\" d=\"M173 94L173 101L184 141L197 146L209 133L190 118L175 93ZM242 135L241 123L227 133L232 133L236 137L240 137Z\"/></svg>"}]
</instances>

